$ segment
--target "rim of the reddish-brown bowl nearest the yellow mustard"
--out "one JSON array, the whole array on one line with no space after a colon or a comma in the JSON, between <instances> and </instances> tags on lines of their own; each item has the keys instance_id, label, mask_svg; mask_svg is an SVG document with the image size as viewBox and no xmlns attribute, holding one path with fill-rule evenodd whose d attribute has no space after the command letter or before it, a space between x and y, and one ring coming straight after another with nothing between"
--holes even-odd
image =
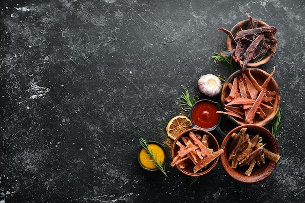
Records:
<instances>
[{"instance_id":1,"label":"rim of the reddish-brown bowl nearest the yellow mustard","mask_svg":"<svg viewBox=\"0 0 305 203\"><path fill-rule=\"evenodd\" d=\"M183 135L185 135L186 133L190 132L190 131L201 131L201 132L203 132L203 133L209 135L209 138L211 138L211 139L215 142L215 147L216 147L216 149L213 148L213 151L215 152L215 151L217 151L217 150L220 150L220 146L219 146L219 143L218 143L216 137L215 137L214 135L212 135L209 131L204 130L204 129L202 129L202 128L190 128L190 129L188 129L188 130L185 130L185 131L181 132L181 133L176 137L176 139L173 141L173 143L172 143L172 159L175 157L174 149L175 149L175 145L176 145L177 140L178 140L180 137L182 137ZM205 171L203 171L203 172L199 172L199 173L191 173L191 172L185 171L185 170L183 170L183 169L180 169L177 165L175 165L175 167L176 167L176 169L178 169L181 173L183 173L183 174L185 174L185 175L187 175L187 176L199 177L199 176L206 175L206 174L208 174L211 170L213 170L213 169L216 167L216 165L217 165L219 159L220 159L220 156L218 156L217 158L215 158L215 159L213 160L212 165L210 165L210 168L209 168L209 169L207 169L207 170L205 170Z\"/></svg>"}]
</instances>

